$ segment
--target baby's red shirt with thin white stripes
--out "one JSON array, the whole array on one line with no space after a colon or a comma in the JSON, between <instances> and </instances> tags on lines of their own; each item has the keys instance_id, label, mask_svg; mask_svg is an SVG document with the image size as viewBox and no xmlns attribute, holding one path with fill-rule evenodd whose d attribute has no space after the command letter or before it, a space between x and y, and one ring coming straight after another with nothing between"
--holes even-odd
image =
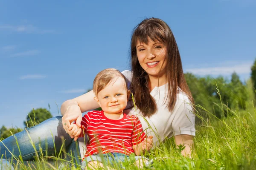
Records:
<instances>
[{"instance_id":1,"label":"baby's red shirt with thin white stripes","mask_svg":"<svg viewBox=\"0 0 256 170\"><path fill-rule=\"evenodd\" d=\"M122 119L108 119L103 111L90 111L82 118L82 135L87 134L85 157L94 153L134 153L132 146L146 137L140 120L124 114Z\"/></svg>"}]
</instances>

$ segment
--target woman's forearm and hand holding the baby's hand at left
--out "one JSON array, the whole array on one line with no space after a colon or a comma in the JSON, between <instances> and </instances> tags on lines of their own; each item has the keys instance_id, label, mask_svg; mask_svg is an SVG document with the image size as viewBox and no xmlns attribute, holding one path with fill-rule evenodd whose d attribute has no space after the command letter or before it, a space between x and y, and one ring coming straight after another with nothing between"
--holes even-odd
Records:
<instances>
[{"instance_id":1,"label":"woman's forearm and hand holding the baby's hand at left","mask_svg":"<svg viewBox=\"0 0 256 170\"><path fill-rule=\"evenodd\" d=\"M71 122L76 121L76 125L81 127L82 113L99 108L99 104L93 99L93 97L93 91L89 91L74 99L67 100L61 105L61 114L63 115L62 125L65 131L72 138L73 135L71 135L68 130Z\"/></svg>"}]
</instances>

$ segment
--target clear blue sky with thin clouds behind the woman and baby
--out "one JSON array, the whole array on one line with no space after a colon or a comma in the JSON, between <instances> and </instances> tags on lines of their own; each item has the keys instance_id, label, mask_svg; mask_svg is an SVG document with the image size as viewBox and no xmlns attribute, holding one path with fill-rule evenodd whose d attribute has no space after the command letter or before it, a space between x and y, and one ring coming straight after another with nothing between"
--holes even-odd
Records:
<instances>
[{"instance_id":1,"label":"clear blue sky with thin clouds behind the woman and baby","mask_svg":"<svg viewBox=\"0 0 256 170\"><path fill-rule=\"evenodd\" d=\"M145 17L172 29L184 72L250 77L254 0L0 1L0 127L33 108L58 116L105 68L129 69L131 31ZM58 107L57 107L58 105Z\"/></svg>"}]
</instances>

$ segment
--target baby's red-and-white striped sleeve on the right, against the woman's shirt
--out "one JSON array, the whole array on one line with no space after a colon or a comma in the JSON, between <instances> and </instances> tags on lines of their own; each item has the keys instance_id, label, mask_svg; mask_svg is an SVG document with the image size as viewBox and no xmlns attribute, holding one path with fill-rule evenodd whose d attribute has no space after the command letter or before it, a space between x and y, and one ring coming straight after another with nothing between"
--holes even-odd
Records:
<instances>
[{"instance_id":1,"label":"baby's red-and-white striped sleeve on the right, against the woman's shirt","mask_svg":"<svg viewBox=\"0 0 256 170\"><path fill-rule=\"evenodd\" d=\"M136 121L134 121L134 130L132 133L132 139L131 142L133 145L140 144L146 136L146 134L143 132L142 125L140 123L140 120L136 117Z\"/></svg>"}]
</instances>

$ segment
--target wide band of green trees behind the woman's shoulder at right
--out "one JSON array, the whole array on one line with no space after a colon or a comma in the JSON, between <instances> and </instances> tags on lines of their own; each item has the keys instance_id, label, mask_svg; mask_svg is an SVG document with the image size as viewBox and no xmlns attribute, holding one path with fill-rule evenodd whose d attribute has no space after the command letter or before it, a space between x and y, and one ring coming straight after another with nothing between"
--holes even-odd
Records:
<instances>
[{"instance_id":1,"label":"wide band of green trees behind the woman's shoulder at right","mask_svg":"<svg viewBox=\"0 0 256 170\"><path fill-rule=\"evenodd\" d=\"M207 112L214 113L218 118L226 116L230 108L233 110L246 109L248 94L239 76L234 72L231 81L219 76L196 77L191 73L186 73L185 78L188 83L198 113L201 117L207 118ZM218 87L218 89L217 89ZM221 100L220 100L221 97Z\"/></svg>"}]
</instances>

